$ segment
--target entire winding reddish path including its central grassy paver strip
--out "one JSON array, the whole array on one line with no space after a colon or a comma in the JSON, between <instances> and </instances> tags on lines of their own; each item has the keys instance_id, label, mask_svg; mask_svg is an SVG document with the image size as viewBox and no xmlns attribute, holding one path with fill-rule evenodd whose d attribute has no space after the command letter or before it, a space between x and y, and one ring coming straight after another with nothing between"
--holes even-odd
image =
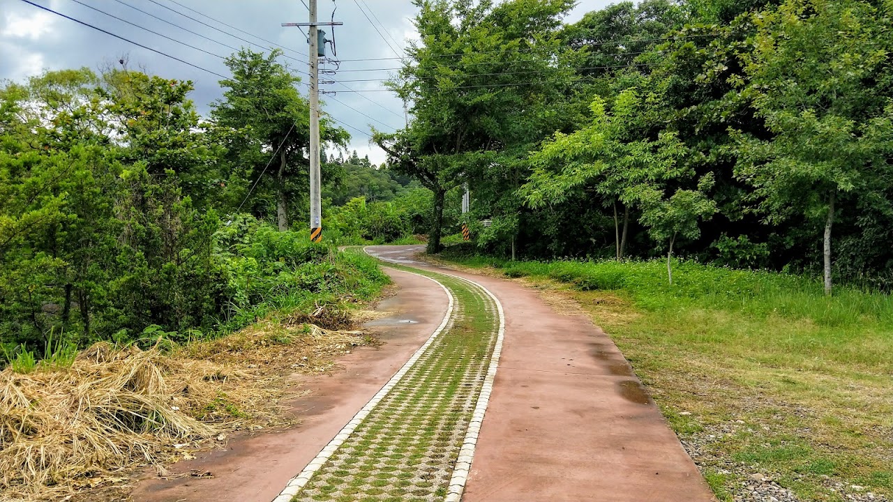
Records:
<instances>
[{"instance_id":1,"label":"entire winding reddish path including its central grassy paver strip","mask_svg":"<svg viewBox=\"0 0 893 502\"><path fill-rule=\"evenodd\" d=\"M367 248L400 287L381 305L395 314L375 322L387 343L306 380L313 394L293 403L305 423L182 463L217 477L143 482L136 500L714 501L587 317L510 280L431 267L420 250Z\"/></svg>"}]
</instances>

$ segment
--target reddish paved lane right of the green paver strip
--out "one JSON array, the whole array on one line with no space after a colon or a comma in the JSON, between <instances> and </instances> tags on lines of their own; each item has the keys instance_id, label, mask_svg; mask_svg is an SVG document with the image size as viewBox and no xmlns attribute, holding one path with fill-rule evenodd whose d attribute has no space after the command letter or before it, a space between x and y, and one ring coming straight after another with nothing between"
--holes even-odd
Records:
<instances>
[{"instance_id":1,"label":"reddish paved lane right of the green paver strip","mask_svg":"<svg viewBox=\"0 0 893 502\"><path fill-rule=\"evenodd\" d=\"M421 247L368 247L417 262ZM505 341L465 502L714 501L630 365L586 316L555 314L510 280L449 271L489 289Z\"/></svg>"}]
</instances>

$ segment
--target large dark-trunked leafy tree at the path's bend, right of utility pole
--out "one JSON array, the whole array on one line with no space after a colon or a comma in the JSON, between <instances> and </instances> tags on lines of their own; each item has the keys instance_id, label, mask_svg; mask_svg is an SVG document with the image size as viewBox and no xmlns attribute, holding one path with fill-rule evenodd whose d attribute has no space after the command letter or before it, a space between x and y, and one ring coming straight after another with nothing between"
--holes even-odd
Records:
<instances>
[{"instance_id":1,"label":"large dark-trunked leafy tree at the path's bend, right of utility pole","mask_svg":"<svg viewBox=\"0 0 893 502\"><path fill-rule=\"evenodd\" d=\"M477 193L510 196L522 176L503 156L524 155L556 129L556 115L545 104L558 92L555 79L569 74L552 63L560 15L573 3L414 4L421 42L409 46L410 57L390 83L413 102L413 121L394 134L377 133L375 141L388 152L391 169L413 175L433 192L428 248L437 252L447 191L471 181Z\"/></svg>"}]
</instances>

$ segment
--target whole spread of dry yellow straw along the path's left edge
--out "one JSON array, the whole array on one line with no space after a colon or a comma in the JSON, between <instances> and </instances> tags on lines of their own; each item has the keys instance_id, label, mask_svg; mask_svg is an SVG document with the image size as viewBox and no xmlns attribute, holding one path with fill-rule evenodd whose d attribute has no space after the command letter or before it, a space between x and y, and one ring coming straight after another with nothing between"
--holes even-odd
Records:
<instances>
[{"instance_id":1,"label":"whole spread of dry yellow straw along the path's left edge","mask_svg":"<svg viewBox=\"0 0 893 502\"><path fill-rule=\"evenodd\" d=\"M303 320L302 320L303 321ZM99 343L70 368L0 372L0 501L58 500L127 481L138 465L188 457L231 431L294 422L282 413L296 373L371 341L356 331L260 322L176 347Z\"/></svg>"}]
</instances>

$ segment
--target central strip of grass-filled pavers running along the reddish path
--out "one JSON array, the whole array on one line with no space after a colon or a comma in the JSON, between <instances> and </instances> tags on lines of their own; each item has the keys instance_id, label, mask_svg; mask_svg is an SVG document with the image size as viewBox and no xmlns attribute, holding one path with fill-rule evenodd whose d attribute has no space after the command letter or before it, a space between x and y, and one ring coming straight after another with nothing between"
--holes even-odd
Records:
<instances>
[{"instance_id":1,"label":"central strip of grass-filled pavers running along the reddish path","mask_svg":"<svg viewBox=\"0 0 893 502\"><path fill-rule=\"evenodd\" d=\"M440 281L455 298L454 313L396 387L292 498L296 502L430 502L447 495L497 340L496 306L463 280L394 268Z\"/></svg>"}]
</instances>

